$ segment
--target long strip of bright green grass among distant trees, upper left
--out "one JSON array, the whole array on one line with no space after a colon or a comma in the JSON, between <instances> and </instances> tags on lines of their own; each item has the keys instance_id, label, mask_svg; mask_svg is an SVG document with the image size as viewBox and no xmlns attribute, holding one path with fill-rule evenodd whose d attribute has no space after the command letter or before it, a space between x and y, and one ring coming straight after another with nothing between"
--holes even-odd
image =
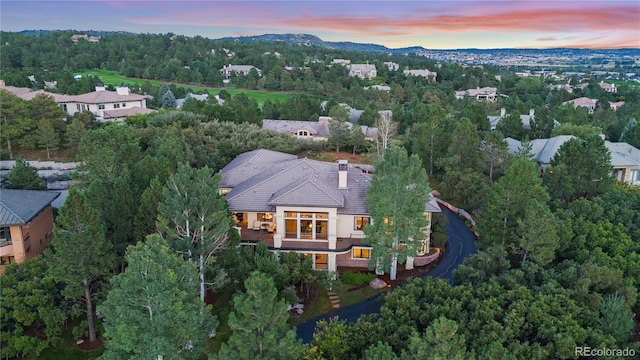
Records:
<instances>
[{"instance_id":1,"label":"long strip of bright green grass among distant trees, upper left","mask_svg":"<svg viewBox=\"0 0 640 360\"><path fill-rule=\"evenodd\" d=\"M120 84L125 85L140 85L144 84L146 81L149 81L154 86L160 86L162 84L170 84L169 82L157 81L157 80L145 80L145 79L136 79L136 78L128 78L126 76L121 75L117 71L109 71L109 70L82 70L79 72L75 72L74 75L93 75L97 76L102 80L105 85L113 85L118 86ZM230 89L230 88L215 88L215 87L207 87L207 86L197 86L197 85L187 85L187 84L176 84L176 86L183 87L186 89L190 89L192 91L201 91L207 90L211 95L215 95L220 92L220 90L224 89L229 94L236 95L239 93L244 93L250 99L255 99L258 102L258 105L262 107L262 104L269 99L271 101L280 101L283 102L293 96L291 93L281 93L281 92L267 92L267 91L251 91L251 90L242 90L242 89Z\"/></svg>"}]
</instances>

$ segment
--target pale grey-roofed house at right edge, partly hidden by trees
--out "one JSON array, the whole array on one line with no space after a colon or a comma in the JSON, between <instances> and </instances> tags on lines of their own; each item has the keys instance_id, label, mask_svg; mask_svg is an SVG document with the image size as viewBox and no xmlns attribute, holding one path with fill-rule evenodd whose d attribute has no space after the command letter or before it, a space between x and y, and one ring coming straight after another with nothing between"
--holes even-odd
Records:
<instances>
[{"instance_id":1,"label":"pale grey-roofed house at right edge, partly hidden by trees","mask_svg":"<svg viewBox=\"0 0 640 360\"><path fill-rule=\"evenodd\" d=\"M531 154L540 166L541 171L551 164L560 147L573 139L572 135L554 136L550 139L531 140ZM522 148L522 143L512 138L506 138L509 153L515 154ZM604 142L611 154L612 176L618 181L630 185L640 185L640 150L625 142Z\"/></svg>"}]
</instances>

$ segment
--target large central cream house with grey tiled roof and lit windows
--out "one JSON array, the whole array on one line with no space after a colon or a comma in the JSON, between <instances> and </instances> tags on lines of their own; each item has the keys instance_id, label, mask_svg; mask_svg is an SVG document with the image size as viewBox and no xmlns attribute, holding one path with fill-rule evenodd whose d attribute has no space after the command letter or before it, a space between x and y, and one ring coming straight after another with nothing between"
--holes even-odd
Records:
<instances>
[{"instance_id":1,"label":"large central cream house with grey tiled roof and lit windows","mask_svg":"<svg viewBox=\"0 0 640 360\"><path fill-rule=\"evenodd\" d=\"M367 268L371 248L363 228L371 222L370 165L328 163L271 150L240 154L222 170L220 192L233 212L242 245L264 242L275 252L308 255L314 269ZM440 212L432 199L425 216ZM429 221L431 222L431 221ZM407 269L429 252L430 226Z\"/></svg>"}]
</instances>

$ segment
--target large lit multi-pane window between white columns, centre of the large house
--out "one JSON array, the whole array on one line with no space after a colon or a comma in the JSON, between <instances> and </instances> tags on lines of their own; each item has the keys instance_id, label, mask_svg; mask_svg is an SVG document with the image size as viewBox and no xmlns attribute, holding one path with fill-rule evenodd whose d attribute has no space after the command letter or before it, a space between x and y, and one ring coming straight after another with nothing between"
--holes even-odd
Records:
<instances>
[{"instance_id":1,"label":"large lit multi-pane window between white columns, centre of the large house","mask_svg":"<svg viewBox=\"0 0 640 360\"><path fill-rule=\"evenodd\" d=\"M285 212L285 238L327 240L329 213Z\"/></svg>"}]
</instances>

